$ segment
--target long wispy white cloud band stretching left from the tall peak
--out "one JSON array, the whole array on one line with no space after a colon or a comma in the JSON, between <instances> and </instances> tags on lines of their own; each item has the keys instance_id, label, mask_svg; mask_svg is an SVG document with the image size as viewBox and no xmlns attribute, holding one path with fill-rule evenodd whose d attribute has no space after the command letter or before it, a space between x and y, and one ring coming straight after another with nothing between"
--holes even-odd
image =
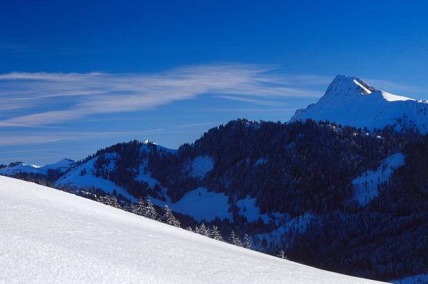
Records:
<instances>
[{"instance_id":1,"label":"long wispy white cloud band stretching left from the tall peak","mask_svg":"<svg viewBox=\"0 0 428 284\"><path fill-rule=\"evenodd\" d=\"M0 74L0 110L7 113L0 127L51 125L93 114L143 111L204 94L278 105L281 97L321 96L322 91L312 86L327 80L322 76L278 76L273 70L265 65L213 64L161 73ZM299 85L302 82L305 84Z\"/></svg>"}]
</instances>

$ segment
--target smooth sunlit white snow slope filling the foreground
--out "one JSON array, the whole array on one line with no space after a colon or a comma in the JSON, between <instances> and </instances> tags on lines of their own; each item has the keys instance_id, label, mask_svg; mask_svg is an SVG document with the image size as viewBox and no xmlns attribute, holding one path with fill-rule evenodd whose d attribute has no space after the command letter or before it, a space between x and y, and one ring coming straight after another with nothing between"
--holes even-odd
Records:
<instances>
[{"instance_id":1,"label":"smooth sunlit white snow slope filling the foreground","mask_svg":"<svg viewBox=\"0 0 428 284\"><path fill-rule=\"evenodd\" d=\"M0 177L0 283L374 283Z\"/></svg>"}]
</instances>

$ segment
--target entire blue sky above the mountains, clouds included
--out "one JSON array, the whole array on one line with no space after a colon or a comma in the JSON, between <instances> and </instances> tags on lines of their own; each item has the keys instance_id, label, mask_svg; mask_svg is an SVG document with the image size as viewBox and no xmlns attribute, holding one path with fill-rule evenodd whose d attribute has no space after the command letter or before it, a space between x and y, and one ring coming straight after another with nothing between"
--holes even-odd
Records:
<instances>
[{"instance_id":1,"label":"entire blue sky above the mountains, clouds included","mask_svg":"<svg viewBox=\"0 0 428 284\"><path fill-rule=\"evenodd\" d=\"M427 1L0 0L0 163L288 121L337 74L428 99L427 12Z\"/></svg>"}]
</instances>

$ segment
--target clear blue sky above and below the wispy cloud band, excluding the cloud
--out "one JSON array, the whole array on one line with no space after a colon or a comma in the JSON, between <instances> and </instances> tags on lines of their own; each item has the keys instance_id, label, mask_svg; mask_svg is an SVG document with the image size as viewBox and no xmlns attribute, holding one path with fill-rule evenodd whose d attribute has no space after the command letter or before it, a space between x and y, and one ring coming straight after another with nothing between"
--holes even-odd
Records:
<instances>
[{"instance_id":1,"label":"clear blue sky above and below the wispy cloud band, excluding the cloud","mask_svg":"<svg viewBox=\"0 0 428 284\"><path fill-rule=\"evenodd\" d=\"M382 80L386 91L427 99L427 15L428 1L0 0L0 74L153 74L237 62L276 66L271 73L278 76L346 74L369 83ZM313 89L321 96L326 87ZM4 96L10 95L0 94ZM0 137L0 163L81 159L130 139L153 139L176 148L234 118L287 121L296 108L317 98L279 100L280 105L267 106L205 94L149 110L51 125L57 129L0 127L3 138L22 136L15 144L2 143ZM6 111L0 118L49 109L40 105ZM35 136L54 132L73 139L35 143ZM93 132L112 134L80 135Z\"/></svg>"}]
</instances>

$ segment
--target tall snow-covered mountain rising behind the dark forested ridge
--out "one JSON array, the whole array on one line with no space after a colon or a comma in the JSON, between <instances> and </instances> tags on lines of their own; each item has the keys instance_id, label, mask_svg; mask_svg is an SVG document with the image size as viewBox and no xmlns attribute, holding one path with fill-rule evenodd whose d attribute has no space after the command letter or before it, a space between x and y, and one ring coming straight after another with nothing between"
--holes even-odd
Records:
<instances>
[{"instance_id":1,"label":"tall snow-covered mountain rising behind the dark forested ridge","mask_svg":"<svg viewBox=\"0 0 428 284\"><path fill-rule=\"evenodd\" d=\"M428 102L396 96L371 87L359 78L337 76L326 94L306 109L298 109L290 121L331 121L342 125L384 127L398 123L428 133Z\"/></svg>"}]
</instances>

